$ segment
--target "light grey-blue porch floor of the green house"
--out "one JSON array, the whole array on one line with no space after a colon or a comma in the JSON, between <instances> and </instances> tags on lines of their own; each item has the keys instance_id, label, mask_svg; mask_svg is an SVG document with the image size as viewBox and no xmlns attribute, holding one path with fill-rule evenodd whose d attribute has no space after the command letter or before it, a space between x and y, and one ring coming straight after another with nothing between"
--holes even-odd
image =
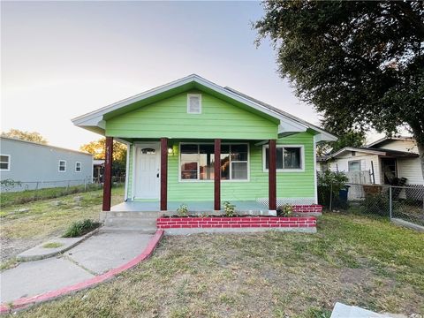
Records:
<instances>
[{"instance_id":1,"label":"light grey-blue porch floor of the green house","mask_svg":"<svg viewBox=\"0 0 424 318\"><path fill-rule=\"evenodd\" d=\"M214 210L213 201L168 201L168 211L177 211L181 204L186 204L191 212L212 212ZM268 212L269 210L266 205L257 201L231 201L231 204L236 206L238 212ZM221 209L223 209L222 203ZM112 212L157 212L160 210L159 201L126 201L110 208Z\"/></svg>"}]
</instances>

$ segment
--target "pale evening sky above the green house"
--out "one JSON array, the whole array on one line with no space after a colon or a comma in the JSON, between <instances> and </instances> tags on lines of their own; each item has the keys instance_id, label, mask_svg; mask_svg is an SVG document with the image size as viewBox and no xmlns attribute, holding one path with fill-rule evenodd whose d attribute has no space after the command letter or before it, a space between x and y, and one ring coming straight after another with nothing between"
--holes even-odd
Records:
<instances>
[{"instance_id":1,"label":"pale evening sky above the green house","mask_svg":"<svg viewBox=\"0 0 424 318\"><path fill-rule=\"evenodd\" d=\"M2 2L1 129L78 149L100 138L71 123L191 73L317 124L254 46L257 2Z\"/></svg>"}]
</instances>

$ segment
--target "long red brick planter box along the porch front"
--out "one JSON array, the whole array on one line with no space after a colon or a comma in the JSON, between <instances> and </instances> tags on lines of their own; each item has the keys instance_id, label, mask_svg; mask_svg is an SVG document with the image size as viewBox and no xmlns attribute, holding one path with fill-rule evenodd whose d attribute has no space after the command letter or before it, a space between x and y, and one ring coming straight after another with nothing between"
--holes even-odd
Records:
<instances>
[{"instance_id":1,"label":"long red brick planter box along the porch front","mask_svg":"<svg viewBox=\"0 0 424 318\"><path fill-rule=\"evenodd\" d=\"M304 231L316 232L316 218L308 217L160 217L158 229L167 234L198 232L246 232L246 231Z\"/></svg>"}]
</instances>

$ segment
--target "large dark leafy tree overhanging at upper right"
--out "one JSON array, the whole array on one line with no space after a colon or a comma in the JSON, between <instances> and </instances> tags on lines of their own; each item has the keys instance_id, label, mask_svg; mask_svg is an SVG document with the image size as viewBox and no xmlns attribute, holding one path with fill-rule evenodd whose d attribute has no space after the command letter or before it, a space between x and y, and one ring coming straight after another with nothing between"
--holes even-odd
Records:
<instances>
[{"instance_id":1,"label":"large dark leafy tree overhanging at upper right","mask_svg":"<svg viewBox=\"0 0 424 318\"><path fill-rule=\"evenodd\" d=\"M424 3L268 1L254 23L278 72L333 133L405 125L424 175Z\"/></svg>"}]
</instances>

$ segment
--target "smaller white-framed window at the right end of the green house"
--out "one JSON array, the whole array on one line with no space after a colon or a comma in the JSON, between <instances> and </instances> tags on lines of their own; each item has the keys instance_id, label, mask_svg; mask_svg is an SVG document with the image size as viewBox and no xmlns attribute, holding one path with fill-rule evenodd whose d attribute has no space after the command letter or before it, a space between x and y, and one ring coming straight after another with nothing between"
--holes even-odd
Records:
<instances>
[{"instance_id":1,"label":"smaller white-framed window at the right end of the green house","mask_svg":"<svg viewBox=\"0 0 424 318\"><path fill-rule=\"evenodd\" d=\"M269 168L269 148L265 149L265 168ZM303 169L303 147L276 145L276 170L302 170Z\"/></svg>"}]
</instances>

